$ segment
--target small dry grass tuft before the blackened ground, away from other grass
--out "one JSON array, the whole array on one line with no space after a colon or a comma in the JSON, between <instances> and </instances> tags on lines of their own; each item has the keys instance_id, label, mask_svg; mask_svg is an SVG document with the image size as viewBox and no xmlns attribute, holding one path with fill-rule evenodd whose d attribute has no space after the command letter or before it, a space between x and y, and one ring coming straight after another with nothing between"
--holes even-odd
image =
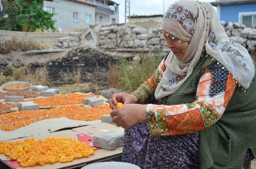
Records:
<instances>
[{"instance_id":1,"label":"small dry grass tuft before the blackened ground, away from other grass","mask_svg":"<svg viewBox=\"0 0 256 169\"><path fill-rule=\"evenodd\" d=\"M68 84L76 84L80 83L81 80L81 68L79 67L77 70L73 69L72 72L67 70L64 73L59 73L60 77L62 77L64 83Z\"/></svg>"}]
</instances>

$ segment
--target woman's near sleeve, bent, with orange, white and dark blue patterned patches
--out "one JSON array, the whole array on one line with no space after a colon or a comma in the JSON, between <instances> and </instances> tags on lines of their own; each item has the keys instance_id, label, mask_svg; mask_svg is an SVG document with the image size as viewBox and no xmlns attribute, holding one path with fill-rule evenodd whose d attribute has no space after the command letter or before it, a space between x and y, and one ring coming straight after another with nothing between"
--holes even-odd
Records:
<instances>
[{"instance_id":1,"label":"woman's near sleeve, bent, with orange, white and dark blue patterned patches","mask_svg":"<svg viewBox=\"0 0 256 169\"><path fill-rule=\"evenodd\" d=\"M180 135L204 130L224 113L236 88L236 80L219 62L202 72L196 100L180 105L146 105L146 116L152 136Z\"/></svg>"}]
</instances>

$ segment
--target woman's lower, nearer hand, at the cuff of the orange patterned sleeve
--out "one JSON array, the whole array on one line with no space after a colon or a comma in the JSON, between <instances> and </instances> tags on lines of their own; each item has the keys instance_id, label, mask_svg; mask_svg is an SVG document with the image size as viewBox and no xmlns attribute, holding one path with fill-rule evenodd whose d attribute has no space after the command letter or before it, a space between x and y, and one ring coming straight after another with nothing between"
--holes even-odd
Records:
<instances>
[{"instance_id":1,"label":"woman's lower, nearer hand, at the cuff of the orange patterned sleeve","mask_svg":"<svg viewBox=\"0 0 256 169\"><path fill-rule=\"evenodd\" d=\"M130 128L138 123L147 123L146 105L142 104L125 104L121 108L110 112L112 121L116 126Z\"/></svg>"}]
</instances>

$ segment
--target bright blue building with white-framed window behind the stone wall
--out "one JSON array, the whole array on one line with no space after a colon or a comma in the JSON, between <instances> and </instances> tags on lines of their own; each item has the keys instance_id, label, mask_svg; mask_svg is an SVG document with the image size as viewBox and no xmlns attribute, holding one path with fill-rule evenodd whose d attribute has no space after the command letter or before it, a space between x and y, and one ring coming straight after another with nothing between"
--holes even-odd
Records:
<instances>
[{"instance_id":1,"label":"bright blue building with white-framed window behind the stone wall","mask_svg":"<svg viewBox=\"0 0 256 169\"><path fill-rule=\"evenodd\" d=\"M210 3L217 7L220 20L256 25L256 0L217 0Z\"/></svg>"}]
</instances>

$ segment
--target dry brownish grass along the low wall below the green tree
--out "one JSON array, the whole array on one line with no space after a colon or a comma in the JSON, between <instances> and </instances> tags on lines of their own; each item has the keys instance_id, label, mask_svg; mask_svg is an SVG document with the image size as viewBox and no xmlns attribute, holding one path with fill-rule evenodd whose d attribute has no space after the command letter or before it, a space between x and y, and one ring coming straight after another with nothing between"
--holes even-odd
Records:
<instances>
[{"instance_id":1,"label":"dry brownish grass along the low wall below the green tree","mask_svg":"<svg viewBox=\"0 0 256 169\"><path fill-rule=\"evenodd\" d=\"M12 38L10 40L4 40L0 41L0 53L7 54L11 51L30 51L33 50L34 47L42 47L42 49L48 48L51 45L44 44L42 42L24 42L24 41L18 41L15 38Z\"/></svg>"}]
</instances>

